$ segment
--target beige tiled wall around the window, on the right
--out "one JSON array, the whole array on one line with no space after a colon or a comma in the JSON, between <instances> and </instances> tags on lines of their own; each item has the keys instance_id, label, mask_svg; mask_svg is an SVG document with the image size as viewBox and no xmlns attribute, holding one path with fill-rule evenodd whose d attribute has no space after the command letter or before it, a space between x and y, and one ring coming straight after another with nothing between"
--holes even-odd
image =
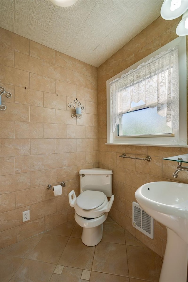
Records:
<instances>
[{"instance_id":1,"label":"beige tiled wall around the window, on the right","mask_svg":"<svg viewBox=\"0 0 188 282\"><path fill-rule=\"evenodd\" d=\"M188 148L105 145L107 141L106 80L175 39L178 22L179 19L165 21L161 17L157 18L98 67L98 160L100 167L113 170L113 193L115 194L109 215L160 256L164 255L166 246L166 228L155 221L155 235L152 240L132 227L134 194L137 188L147 182L174 181L172 173L175 171L177 163L162 158L187 154ZM141 160L120 159L119 155L122 153L131 157L150 155L152 162L143 163ZM179 173L177 181L188 183L187 172Z\"/></svg>"}]
</instances>

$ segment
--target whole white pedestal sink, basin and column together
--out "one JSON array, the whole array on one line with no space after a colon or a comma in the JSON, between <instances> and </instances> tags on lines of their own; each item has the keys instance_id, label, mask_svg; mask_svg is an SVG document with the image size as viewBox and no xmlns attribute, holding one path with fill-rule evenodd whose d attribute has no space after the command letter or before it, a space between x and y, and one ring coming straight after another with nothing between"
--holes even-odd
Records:
<instances>
[{"instance_id":1,"label":"whole white pedestal sink, basin and column together","mask_svg":"<svg viewBox=\"0 0 188 282\"><path fill-rule=\"evenodd\" d=\"M188 263L188 184L150 182L135 192L141 208L167 227L159 282L186 282Z\"/></svg>"}]
</instances>

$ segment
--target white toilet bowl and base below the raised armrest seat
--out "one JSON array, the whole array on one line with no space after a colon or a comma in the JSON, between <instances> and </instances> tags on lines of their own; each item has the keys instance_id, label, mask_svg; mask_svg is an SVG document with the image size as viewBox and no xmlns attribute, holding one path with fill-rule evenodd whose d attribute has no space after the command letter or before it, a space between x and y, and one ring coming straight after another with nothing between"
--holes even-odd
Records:
<instances>
[{"instance_id":1,"label":"white toilet bowl and base below the raised armrest seat","mask_svg":"<svg viewBox=\"0 0 188 282\"><path fill-rule=\"evenodd\" d=\"M85 219L75 213L75 221L83 227L82 242L86 246L96 246L103 237L103 222L106 220L108 213L104 213L98 218Z\"/></svg>"}]
</instances>

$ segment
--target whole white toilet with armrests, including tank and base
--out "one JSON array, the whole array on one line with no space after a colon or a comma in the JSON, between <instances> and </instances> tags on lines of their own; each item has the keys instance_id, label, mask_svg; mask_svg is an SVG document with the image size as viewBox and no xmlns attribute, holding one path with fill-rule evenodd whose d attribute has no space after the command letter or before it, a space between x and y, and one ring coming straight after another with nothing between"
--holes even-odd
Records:
<instances>
[{"instance_id":1,"label":"whole white toilet with armrests, including tank and base","mask_svg":"<svg viewBox=\"0 0 188 282\"><path fill-rule=\"evenodd\" d=\"M112 174L109 169L81 169L80 195L76 197L74 190L68 194L75 221L83 227L81 238L86 246L97 245L103 237L103 222L114 201ZM111 197L110 201L107 197Z\"/></svg>"}]
</instances>

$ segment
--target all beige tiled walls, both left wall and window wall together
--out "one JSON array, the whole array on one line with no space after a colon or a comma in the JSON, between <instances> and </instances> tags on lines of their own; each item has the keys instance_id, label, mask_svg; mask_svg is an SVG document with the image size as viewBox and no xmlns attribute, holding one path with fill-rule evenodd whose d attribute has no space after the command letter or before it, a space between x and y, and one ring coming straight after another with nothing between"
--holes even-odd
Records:
<instances>
[{"instance_id":1,"label":"all beige tiled walls, both left wall and window wall together","mask_svg":"<svg viewBox=\"0 0 188 282\"><path fill-rule=\"evenodd\" d=\"M99 162L113 169L110 217L164 255L165 227L155 221L154 240L136 231L132 201L143 183L174 180L176 164L162 158L188 149L105 145L106 80L176 38L177 24L177 19L159 17L98 69L1 29L2 86L13 95L2 97L7 110L1 111L1 248L71 220L74 210L67 195L79 191L78 171ZM79 120L71 118L67 106L76 97L85 107ZM120 159L122 152L149 154L152 162L143 166L139 160ZM63 195L54 197L46 185L61 181L66 181ZM188 183L186 172L178 181ZM26 209L31 220L22 223Z\"/></svg>"}]
</instances>

